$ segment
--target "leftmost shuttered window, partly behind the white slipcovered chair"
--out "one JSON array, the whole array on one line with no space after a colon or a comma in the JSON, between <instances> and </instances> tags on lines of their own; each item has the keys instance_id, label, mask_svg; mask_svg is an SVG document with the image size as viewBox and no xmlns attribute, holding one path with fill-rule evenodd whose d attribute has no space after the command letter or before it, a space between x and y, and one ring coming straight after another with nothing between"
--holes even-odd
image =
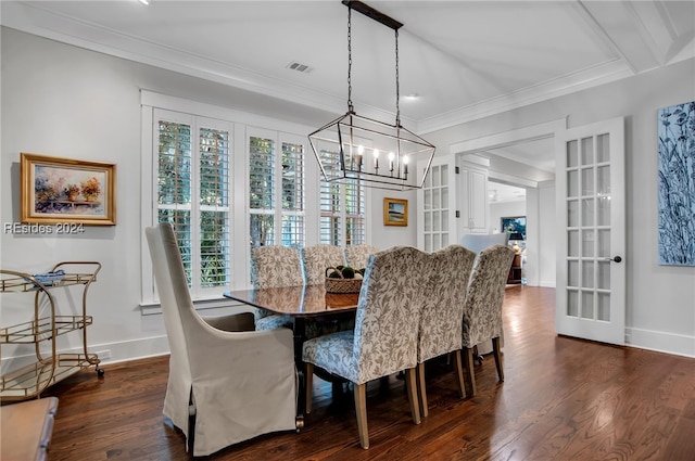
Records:
<instances>
[{"instance_id":1,"label":"leftmost shuttered window, partly behind the white slipcovered chair","mask_svg":"<svg viewBox=\"0 0 695 461\"><path fill-rule=\"evenodd\" d=\"M191 292L230 285L229 124L155 112L156 221L174 225Z\"/></svg>"}]
</instances>

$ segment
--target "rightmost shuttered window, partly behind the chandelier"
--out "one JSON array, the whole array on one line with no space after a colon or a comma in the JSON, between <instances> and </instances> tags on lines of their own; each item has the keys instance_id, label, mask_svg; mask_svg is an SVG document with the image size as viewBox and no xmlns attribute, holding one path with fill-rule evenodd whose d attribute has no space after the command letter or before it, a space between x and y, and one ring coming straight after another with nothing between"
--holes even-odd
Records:
<instances>
[{"instance_id":1,"label":"rightmost shuttered window, partly behind the chandelier","mask_svg":"<svg viewBox=\"0 0 695 461\"><path fill-rule=\"evenodd\" d=\"M339 168L338 152L320 153L324 166ZM320 243L351 246L365 243L365 188L359 180L320 184Z\"/></svg>"}]
</instances>

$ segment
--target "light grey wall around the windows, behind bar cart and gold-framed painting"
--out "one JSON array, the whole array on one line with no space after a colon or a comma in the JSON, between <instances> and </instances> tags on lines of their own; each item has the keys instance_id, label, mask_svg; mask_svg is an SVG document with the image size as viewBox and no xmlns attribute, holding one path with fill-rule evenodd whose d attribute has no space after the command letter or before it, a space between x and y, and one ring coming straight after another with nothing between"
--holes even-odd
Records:
<instances>
[{"instance_id":1,"label":"light grey wall around the windows, behind bar cart and gold-framed painting","mask_svg":"<svg viewBox=\"0 0 695 461\"><path fill-rule=\"evenodd\" d=\"M100 261L103 268L88 297L88 315L93 316L93 324L88 328L90 351L109 349L112 361L167 353L161 316L143 316L140 308L140 254L147 252L140 247L140 89L303 123L307 133L313 126L334 118L334 114L315 111L318 121L296 120L292 118L296 111L287 102L278 105L266 97L5 27L1 47L1 223L20 221L21 152L115 163L117 223L86 227L84 233L74 235L2 232L0 267L36 273L61 260ZM312 114L305 108L300 112ZM408 199L409 226L383 226L384 196ZM367 232L374 235L370 243L380 248L415 245L415 193L374 190L367 197ZM71 294L61 307L68 313L79 309L77 296ZM3 326L30 319L27 312L33 309L31 296L14 296L8 302L3 295L2 302ZM211 309L205 313L227 310ZM65 351L80 344L78 333L67 334L60 336L59 348ZM3 345L2 356L2 370L7 371L30 359L34 350L29 346Z\"/></svg>"}]
</instances>

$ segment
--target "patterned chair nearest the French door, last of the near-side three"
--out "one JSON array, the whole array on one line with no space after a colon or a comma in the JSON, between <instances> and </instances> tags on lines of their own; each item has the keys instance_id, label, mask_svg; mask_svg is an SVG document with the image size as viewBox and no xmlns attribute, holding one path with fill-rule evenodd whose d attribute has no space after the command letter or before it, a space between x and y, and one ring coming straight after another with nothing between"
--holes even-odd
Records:
<instances>
[{"instance_id":1,"label":"patterned chair nearest the French door, last of the near-side three","mask_svg":"<svg viewBox=\"0 0 695 461\"><path fill-rule=\"evenodd\" d=\"M473 262L466 294L463 323L464 360L471 395L476 395L473 347L483 341L492 341L497 376L500 381L504 381L500 351L502 304L513 258L514 249L505 245L493 245L480 252Z\"/></svg>"}]
</instances>

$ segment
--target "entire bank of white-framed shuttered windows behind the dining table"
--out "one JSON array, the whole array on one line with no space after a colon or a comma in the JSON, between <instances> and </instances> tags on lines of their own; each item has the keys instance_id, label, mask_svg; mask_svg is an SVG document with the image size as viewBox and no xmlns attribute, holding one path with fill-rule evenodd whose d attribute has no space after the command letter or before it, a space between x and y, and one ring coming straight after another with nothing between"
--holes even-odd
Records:
<instances>
[{"instance_id":1,"label":"entire bank of white-framed shuttered windows behind the dining table","mask_svg":"<svg viewBox=\"0 0 695 461\"><path fill-rule=\"evenodd\" d=\"M253 246L364 242L364 190L320 182L303 135L311 127L147 90L141 114L141 219L175 226L191 297L201 306L249 286ZM142 312L156 312L141 238Z\"/></svg>"}]
</instances>

